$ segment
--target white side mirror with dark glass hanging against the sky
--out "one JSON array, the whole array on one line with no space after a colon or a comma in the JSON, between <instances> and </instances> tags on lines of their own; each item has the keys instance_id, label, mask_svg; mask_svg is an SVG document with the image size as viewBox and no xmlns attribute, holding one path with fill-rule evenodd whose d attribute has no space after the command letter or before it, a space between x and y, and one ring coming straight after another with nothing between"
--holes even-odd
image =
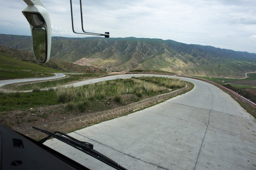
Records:
<instances>
[{"instance_id":1,"label":"white side mirror with dark glass hanging against the sky","mask_svg":"<svg viewBox=\"0 0 256 170\"><path fill-rule=\"evenodd\" d=\"M51 52L51 22L41 0L23 0L28 6L22 13L31 29L34 56L38 63L47 63Z\"/></svg>"}]
</instances>

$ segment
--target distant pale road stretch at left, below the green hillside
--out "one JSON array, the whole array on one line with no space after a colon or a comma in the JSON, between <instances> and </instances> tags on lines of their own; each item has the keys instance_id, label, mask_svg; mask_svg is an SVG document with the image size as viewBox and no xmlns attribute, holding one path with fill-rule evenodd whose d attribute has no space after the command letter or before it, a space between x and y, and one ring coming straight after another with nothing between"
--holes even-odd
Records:
<instances>
[{"instance_id":1,"label":"distant pale road stretch at left, below the green hillside","mask_svg":"<svg viewBox=\"0 0 256 170\"><path fill-rule=\"evenodd\" d=\"M52 79L62 78L62 77L66 76L65 74L62 74L62 73L54 73L54 74L55 74L55 76L42 77L42 78L22 78L22 79L13 79L13 80L1 80L0 87L3 85L9 85L9 84L13 84L13 83L52 80Z\"/></svg>"}]
</instances>

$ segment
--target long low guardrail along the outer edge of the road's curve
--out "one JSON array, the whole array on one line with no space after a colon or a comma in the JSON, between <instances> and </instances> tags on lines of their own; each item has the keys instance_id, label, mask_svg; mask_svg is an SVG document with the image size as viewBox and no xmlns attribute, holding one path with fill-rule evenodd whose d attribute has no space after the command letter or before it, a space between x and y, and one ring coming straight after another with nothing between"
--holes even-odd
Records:
<instances>
[{"instance_id":1,"label":"long low guardrail along the outer edge of the road's curve","mask_svg":"<svg viewBox=\"0 0 256 170\"><path fill-rule=\"evenodd\" d=\"M210 80L203 79L203 78L199 78L199 77L183 76L183 75L179 75L179 74L169 74L169 73L151 73L151 72L122 72L122 73L114 73L114 74L108 74L108 75L102 75L102 76L114 76L114 75L122 75L122 74L158 74L158 75L170 75L170 76L180 76L180 77L187 77L187 78L198 79L198 80L207 82L209 84L218 86L220 89L224 90L229 95L231 95L233 97L236 97L240 101L246 102L247 103L247 107L248 107L248 105L251 105L252 107L256 108L256 104L254 102L244 98L243 96L237 94L236 92L233 92L232 90L230 90L230 89L228 89L228 88L226 88L226 87L224 87L222 85L219 85L218 83L215 83L215 82L212 82ZM100 77L102 77L102 76L100 76Z\"/></svg>"}]
</instances>

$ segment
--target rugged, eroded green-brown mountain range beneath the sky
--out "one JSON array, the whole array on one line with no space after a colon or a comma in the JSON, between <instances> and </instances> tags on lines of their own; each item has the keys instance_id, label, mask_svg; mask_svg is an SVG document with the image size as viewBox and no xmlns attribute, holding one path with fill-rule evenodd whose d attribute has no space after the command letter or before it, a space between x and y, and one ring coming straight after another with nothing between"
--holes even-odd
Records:
<instances>
[{"instance_id":1,"label":"rugged, eroded green-brown mountain range beneath the sky","mask_svg":"<svg viewBox=\"0 0 256 170\"><path fill-rule=\"evenodd\" d=\"M0 34L0 45L32 52L30 36ZM52 37L51 58L109 71L154 69L218 77L256 71L256 53L135 37Z\"/></svg>"}]
</instances>

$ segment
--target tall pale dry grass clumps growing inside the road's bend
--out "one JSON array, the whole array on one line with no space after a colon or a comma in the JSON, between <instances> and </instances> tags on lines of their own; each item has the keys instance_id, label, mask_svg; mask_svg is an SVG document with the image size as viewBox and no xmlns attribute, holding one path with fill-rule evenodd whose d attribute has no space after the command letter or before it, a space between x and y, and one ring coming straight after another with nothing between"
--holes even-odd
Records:
<instances>
[{"instance_id":1,"label":"tall pale dry grass clumps growing inside the road's bend","mask_svg":"<svg viewBox=\"0 0 256 170\"><path fill-rule=\"evenodd\" d=\"M55 91L59 102L105 99L107 96L114 96L116 101L120 101L123 94L141 97L143 94L161 93L167 88L180 88L184 85L178 78L141 77L110 80L76 88L58 86Z\"/></svg>"}]
</instances>

